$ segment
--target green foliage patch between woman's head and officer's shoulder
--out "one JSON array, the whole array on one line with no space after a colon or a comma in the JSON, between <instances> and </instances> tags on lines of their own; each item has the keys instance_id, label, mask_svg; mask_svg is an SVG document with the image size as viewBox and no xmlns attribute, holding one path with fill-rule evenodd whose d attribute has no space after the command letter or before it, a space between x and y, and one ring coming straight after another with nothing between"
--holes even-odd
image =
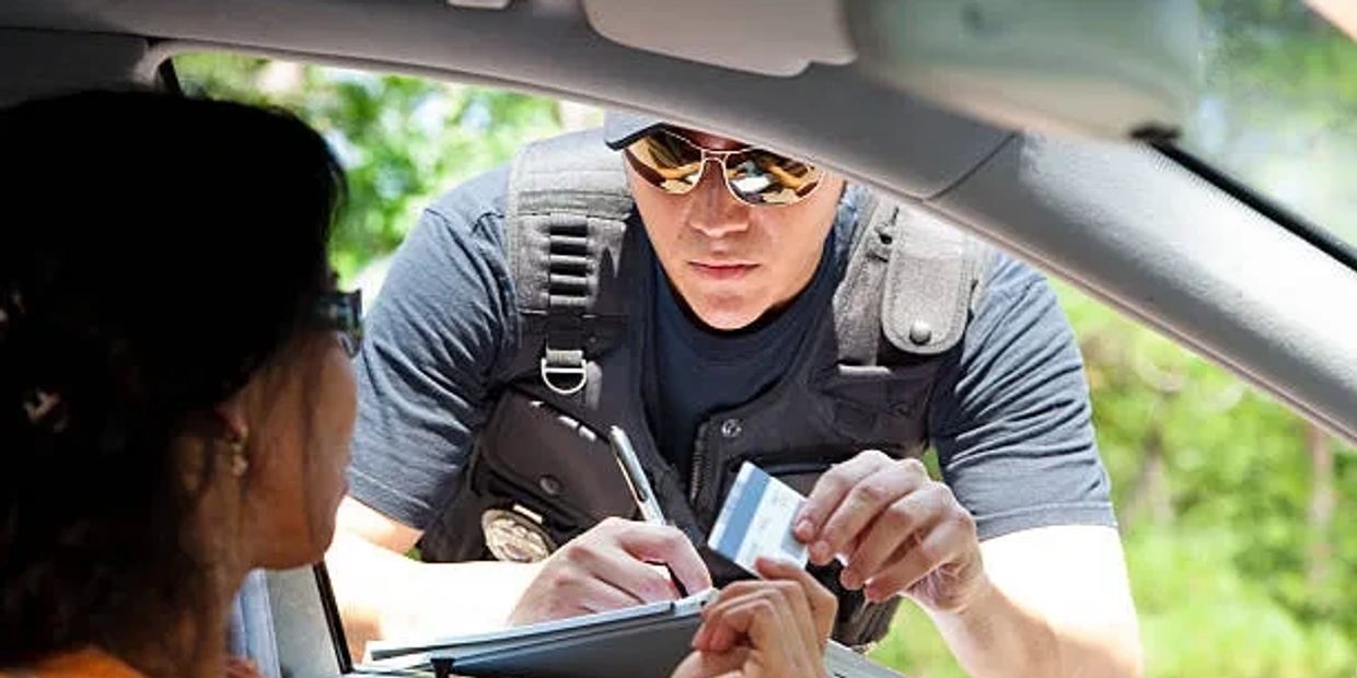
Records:
<instances>
[{"instance_id":1,"label":"green foliage patch between woman's head and officer's shoulder","mask_svg":"<svg viewBox=\"0 0 1357 678\"><path fill-rule=\"evenodd\" d=\"M282 107L326 136L349 175L345 278L395 250L438 193L562 129L556 102L501 89L243 56L174 64L189 95Z\"/></svg>"}]
</instances>

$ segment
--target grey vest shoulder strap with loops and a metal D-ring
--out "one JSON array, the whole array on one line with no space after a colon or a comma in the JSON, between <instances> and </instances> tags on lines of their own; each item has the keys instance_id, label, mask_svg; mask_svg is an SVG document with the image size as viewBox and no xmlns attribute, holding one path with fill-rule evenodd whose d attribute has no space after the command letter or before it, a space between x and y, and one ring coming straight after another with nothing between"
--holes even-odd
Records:
<instances>
[{"instance_id":1,"label":"grey vest shoulder strap with loops and a metal D-ring","mask_svg":"<svg viewBox=\"0 0 1357 678\"><path fill-rule=\"evenodd\" d=\"M588 130L529 144L509 175L505 248L524 348L540 351L543 382L563 396L588 381L585 348L624 327L620 259L634 203L622 163Z\"/></svg>"}]
</instances>

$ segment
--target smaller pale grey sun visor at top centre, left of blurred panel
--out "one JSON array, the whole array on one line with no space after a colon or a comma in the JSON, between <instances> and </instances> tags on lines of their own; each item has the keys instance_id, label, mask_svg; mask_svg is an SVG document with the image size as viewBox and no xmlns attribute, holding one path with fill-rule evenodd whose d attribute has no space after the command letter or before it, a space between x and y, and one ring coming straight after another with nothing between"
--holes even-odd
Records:
<instances>
[{"instance_id":1,"label":"smaller pale grey sun visor at top centre, left of blurred panel","mask_svg":"<svg viewBox=\"0 0 1357 678\"><path fill-rule=\"evenodd\" d=\"M768 76L854 60L833 0L582 0L589 24L628 47Z\"/></svg>"}]
</instances>

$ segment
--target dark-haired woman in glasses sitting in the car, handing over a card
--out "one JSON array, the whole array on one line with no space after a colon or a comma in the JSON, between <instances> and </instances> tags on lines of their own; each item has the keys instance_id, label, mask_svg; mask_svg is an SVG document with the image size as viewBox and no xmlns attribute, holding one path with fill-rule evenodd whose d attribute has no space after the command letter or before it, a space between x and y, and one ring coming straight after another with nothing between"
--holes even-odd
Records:
<instances>
[{"instance_id":1,"label":"dark-haired woman in glasses sitting in the car, handing over a card","mask_svg":"<svg viewBox=\"0 0 1357 678\"><path fill-rule=\"evenodd\" d=\"M0 148L0 677L224 675L242 579L318 561L345 494L343 175L288 115L148 92L11 108ZM833 598L764 574L678 675L822 674Z\"/></svg>"}]
</instances>

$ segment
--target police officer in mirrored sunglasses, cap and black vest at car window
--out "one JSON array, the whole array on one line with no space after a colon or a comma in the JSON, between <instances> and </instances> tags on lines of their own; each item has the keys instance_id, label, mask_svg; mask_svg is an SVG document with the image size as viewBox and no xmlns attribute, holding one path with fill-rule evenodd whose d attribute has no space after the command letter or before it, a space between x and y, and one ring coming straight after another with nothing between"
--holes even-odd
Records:
<instances>
[{"instance_id":1,"label":"police officer in mirrored sunglasses, cap and black vest at car window","mask_svg":"<svg viewBox=\"0 0 1357 678\"><path fill-rule=\"evenodd\" d=\"M1140 671L1050 287L813 163L620 114L532 144L423 213L358 380L327 557L356 641L738 579L702 545L752 461L807 495L840 641L909 598L973 675ZM639 522L611 426L672 526Z\"/></svg>"}]
</instances>

